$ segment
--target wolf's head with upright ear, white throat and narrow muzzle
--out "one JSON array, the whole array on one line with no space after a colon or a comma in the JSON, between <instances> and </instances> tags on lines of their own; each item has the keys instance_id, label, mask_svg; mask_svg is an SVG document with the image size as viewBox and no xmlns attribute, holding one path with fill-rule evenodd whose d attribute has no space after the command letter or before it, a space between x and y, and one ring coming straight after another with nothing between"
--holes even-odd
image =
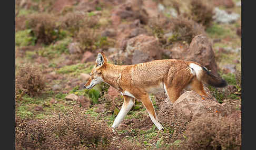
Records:
<instances>
[{"instance_id":1,"label":"wolf's head with upright ear, white throat and narrow muzzle","mask_svg":"<svg viewBox=\"0 0 256 150\"><path fill-rule=\"evenodd\" d=\"M102 69L107 63L107 58L103 52L98 53L96 64L90 73L90 79L84 85L86 89L92 89L96 84L99 84L103 81L102 79Z\"/></svg>"}]
</instances>

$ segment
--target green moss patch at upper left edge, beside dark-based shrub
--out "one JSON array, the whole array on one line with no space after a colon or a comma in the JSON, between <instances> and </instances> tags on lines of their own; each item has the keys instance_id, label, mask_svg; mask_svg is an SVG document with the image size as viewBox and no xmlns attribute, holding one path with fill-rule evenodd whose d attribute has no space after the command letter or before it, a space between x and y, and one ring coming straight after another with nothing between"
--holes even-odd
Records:
<instances>
[{"instance_id":1,"label":"green moss patch at upper left edge, beside dark-based shrub","mask_svg":"<svg viewBox=\"0 0 256 150\"><path fill-rule=\"evenodd\" d=\"M31 35L31 30L21 30L15 33L15 45L16 46L29 46L35 45L36 37Z\"/></svg>"}]
</instances>

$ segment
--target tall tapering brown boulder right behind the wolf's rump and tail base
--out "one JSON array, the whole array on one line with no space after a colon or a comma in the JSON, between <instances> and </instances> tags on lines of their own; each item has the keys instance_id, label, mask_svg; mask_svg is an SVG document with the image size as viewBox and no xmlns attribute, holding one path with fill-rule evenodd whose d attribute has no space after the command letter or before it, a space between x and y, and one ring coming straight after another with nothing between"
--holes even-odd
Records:
<instances>
[{"instance_id":1,"label":"tall tapering brown boulder right behind the wolf's rump and tail base","mask_svg":"<svg viewBox=\"0 0 256 150\"><path fill-rule=\"evenodd\" d=\"M189 49L185 51L182 59L198 62L211 70L213 74L218 74L212 44L205 35L197 35L192 39Z\"/></svg>"}]
</instances>

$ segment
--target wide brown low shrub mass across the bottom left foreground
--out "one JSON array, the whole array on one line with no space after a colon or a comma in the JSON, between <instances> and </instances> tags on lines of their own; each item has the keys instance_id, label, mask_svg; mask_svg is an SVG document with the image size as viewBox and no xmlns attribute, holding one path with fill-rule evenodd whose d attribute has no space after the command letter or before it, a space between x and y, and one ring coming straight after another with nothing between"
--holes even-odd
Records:
<instances>
[{"instance_id":1,"label":"wide brown low shrub mass across the bottom left foreground","mask_svg":"<svg viewBox=\"0 0 256 150\"><path fill-rule=\"evenodd\" d=\"M66 114L37 120L15 120L16 149L134 149L114 137L111 127L74 106ZM113 140L115 138L116 140Z\"/></svg>"}]
</instances>

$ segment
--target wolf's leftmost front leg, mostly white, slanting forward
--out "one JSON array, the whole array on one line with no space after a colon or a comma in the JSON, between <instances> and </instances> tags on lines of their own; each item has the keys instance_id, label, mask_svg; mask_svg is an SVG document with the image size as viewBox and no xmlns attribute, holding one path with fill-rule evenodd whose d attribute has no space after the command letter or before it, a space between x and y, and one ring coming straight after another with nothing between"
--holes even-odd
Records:
<instances>
[{"instance_id":1,"label":"wolf's leftmost front leg, mostly white, slanting forward","mask_svg":"<svg viewBox=\"0 0 256 150\"><path fill-rule=\"evenodd\" d=\"M123 95L123 97L124 97L124 103L122 105L120 112L115 118L115 121L112 125L113 128L116 128L117 126L119 126L119 124L123 121L126 114L132 109L132 106L134 105L134 102L135 102L134 98L131 98L126 95Z\"/></svg>"}]
</instances>

